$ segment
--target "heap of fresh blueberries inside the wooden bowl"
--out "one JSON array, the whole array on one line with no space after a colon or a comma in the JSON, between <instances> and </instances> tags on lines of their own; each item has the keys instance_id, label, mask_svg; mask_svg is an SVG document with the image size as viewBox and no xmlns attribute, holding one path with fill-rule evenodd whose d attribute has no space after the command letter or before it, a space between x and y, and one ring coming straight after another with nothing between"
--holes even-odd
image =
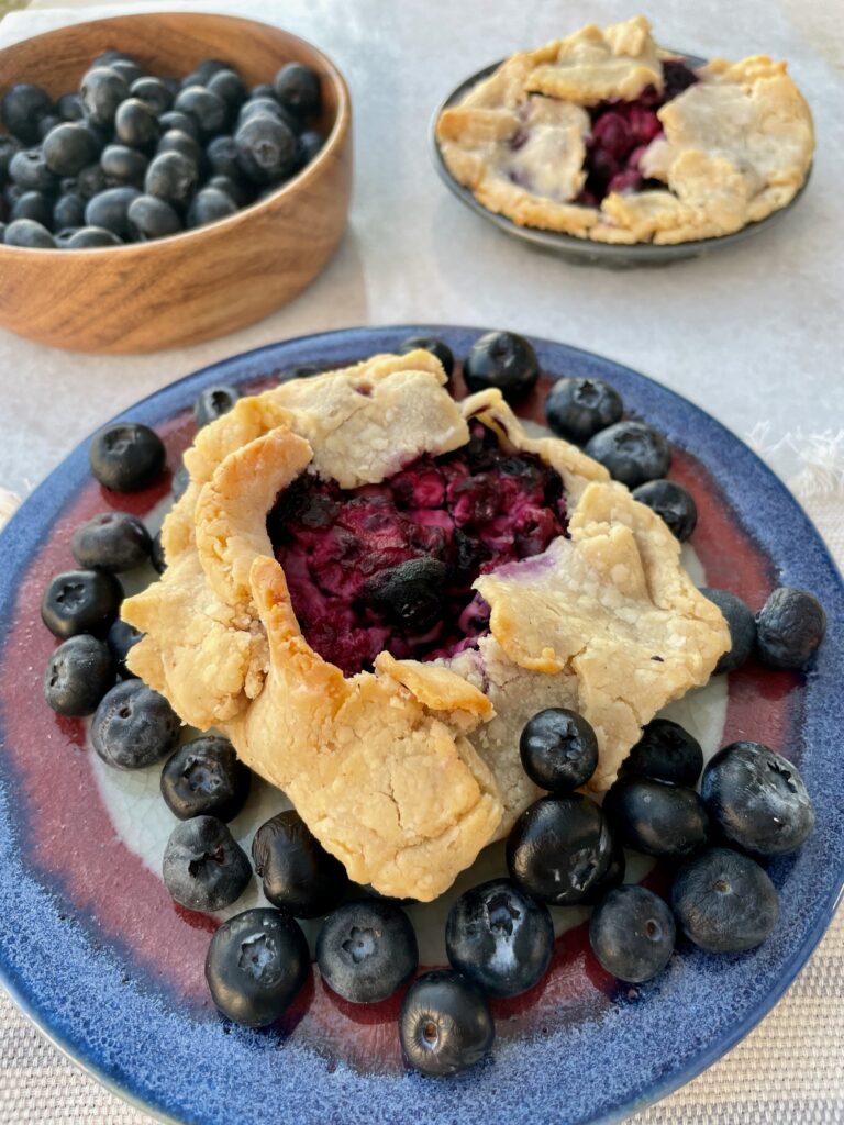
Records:
<instances>
[{"instance_id":1,"label":"heap of fresh blueberries inside the wooden bowl","mask_svg":"<svg viewBox=\"0 0 844 1125\"><path fill-rule=\"evenodd\" d=\"M20 82L0 106L0 242L84 250L227 218L314 159L321 105L302 63L248 90L215 58L179 80L107 51L56 102Z\"/></svg>"}]
</instances>

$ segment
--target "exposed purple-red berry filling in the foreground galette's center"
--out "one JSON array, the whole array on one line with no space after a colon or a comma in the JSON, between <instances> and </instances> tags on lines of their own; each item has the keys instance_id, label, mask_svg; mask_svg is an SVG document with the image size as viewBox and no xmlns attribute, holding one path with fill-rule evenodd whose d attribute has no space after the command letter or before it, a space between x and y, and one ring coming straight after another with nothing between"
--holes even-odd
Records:
<instances>
[{"instance_id":1,"label":"exposed purple-red berry filling in the foreground galette's center","mask_svg":"<svg viewBox=\"0 0 844 1125\"><path fill-rule=\"evenodd\" d=\"M472 584L566 533L563 482L481 423L466 446L379 485L303 474L267 519L305 639L347 675L378 652L433 659L488 629Z\"/></svg>"}]
</instances>

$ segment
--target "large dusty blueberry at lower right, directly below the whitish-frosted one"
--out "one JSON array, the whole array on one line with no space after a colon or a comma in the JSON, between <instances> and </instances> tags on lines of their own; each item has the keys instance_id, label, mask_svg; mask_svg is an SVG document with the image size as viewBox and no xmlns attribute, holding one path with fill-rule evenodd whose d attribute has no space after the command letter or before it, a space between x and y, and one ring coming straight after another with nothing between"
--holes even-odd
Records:
<instances>
[{"instance_id":1,"label":"large dusty blueberry at lower right, directly below the whitish-frosted one","mask_svg":"<svg viewBox=\"0 0 844 1125\"><path fill-rule=\"evenodd\" d=\"M702 950L740 953L770 937L780 899L757 863L713 847L681 870L671 889L671 908L685 936Z\"/></svg>"}]
</instances>

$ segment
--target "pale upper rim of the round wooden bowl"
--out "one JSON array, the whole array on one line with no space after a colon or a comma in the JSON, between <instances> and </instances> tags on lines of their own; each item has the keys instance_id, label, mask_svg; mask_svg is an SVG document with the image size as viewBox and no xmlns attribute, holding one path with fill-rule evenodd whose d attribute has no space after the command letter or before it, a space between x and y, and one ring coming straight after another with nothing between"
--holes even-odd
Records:
<instances>
[{"instance_id":1,"label":"pale upper rim of the round wooden bowl","mask_svg":"<svg viewBox=\"0 0 844 1125\"><path fill-rule=\"evenodd\" d=\"M62 250L59 246L51 246L47 249L35 248L35 246L8 246L5 242L0 242L0 260L5 254L9 254L11 260L20 259L21 255L27 255L32 261L53 262L53 261L68 261L69 256L77 254L120 254L127 253L128 251L134 251L135 253L153 253L162 244L173 245L176 242L187 242L188 238L196 238L201 235L208 234L209 231L223 231L223 228L228 230L234 227L239 222L242 222L244 216L254 215L262 209L269 210L270 207L279 201L286 192L293 191L293 189L299 189L306 186L309 180L314 179L318 173L322 165L327 161L330 155L333 155L342 141L348 136L349 127L351 125L351 94L349 92L349 86L343 76L340 68L331 60L329 56L308 39L303 39L300 35L295 35L293 32L288 32L284 27L279 27L276 24L268 24L260 19L249 19L242 16L231 16L226 12L213 12L213 11L149 11L149 12L126 12L125 16L106 16L102 19L87 19L80 24L69 24L64 27L56 27L50 32L42 32L39 35L32 35L26 40L32 42L36 39L43 39L51 35L57 35L66 30L69 27L80 28L86 25L108 25L117 21L124 21L127 19L150 19L158 16L181 17L183 19L196 20L210 18L214 20L226 20L232 24L251 24L255 28L271 28L273 32L281 32L289 39L296 43L303 44L308 51L312 51L320 60L321 65L325 68L325 72L331 79L332 84L338 93L338 107L336 114L334 116L334 123L331 126L331 130L325 137L325 142L316 154L316 156L300 169L295 176L293 176L286 183L280 184L275 191L272 191L266 199L258 199L254 202L249 204L246 207L239 208L234 215L228 215L225 218L216 219L214 223L206 223L205 226L197 226L190 231L179 231L177 234L165 235L163 238L149 238L144 242L126 242L119 246L83 246L72 250ZM14 51L17 44L11 44L9 47L3 48L5 51ZM37 256L33 256L37 255Z\"/></svg>"}]
</instances>

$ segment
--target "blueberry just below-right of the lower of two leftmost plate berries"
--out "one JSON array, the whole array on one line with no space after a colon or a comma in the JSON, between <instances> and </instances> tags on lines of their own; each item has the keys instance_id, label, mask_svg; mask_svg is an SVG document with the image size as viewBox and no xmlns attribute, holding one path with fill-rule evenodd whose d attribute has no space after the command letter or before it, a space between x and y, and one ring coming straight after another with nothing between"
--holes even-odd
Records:
<instances>
[{"instance_id":1,"label":"blueberry just below-right of the lower of two leftmost plate berries","mask_svg":"<svg viewBox=\"0 0 844 1125\"><path fill-rule=\"evenodd\" d=\"M117 770L141 770L173 749L181 722L163 695L140 680L124 680L97 708L91 741Z\"/></svg>"}]
</instances>

